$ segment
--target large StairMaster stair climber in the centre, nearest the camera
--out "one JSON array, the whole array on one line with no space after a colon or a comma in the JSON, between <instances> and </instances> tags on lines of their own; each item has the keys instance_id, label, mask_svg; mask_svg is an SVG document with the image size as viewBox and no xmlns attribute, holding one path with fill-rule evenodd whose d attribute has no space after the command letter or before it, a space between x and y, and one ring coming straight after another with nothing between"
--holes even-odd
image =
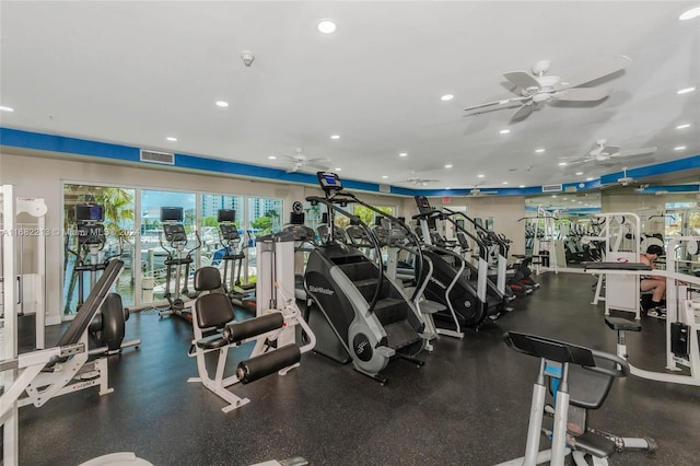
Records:
<instances>
[{"instance_id":1,"label":"large StairMaster stair climber in the centre, nearest the camera","mask_svg":"<svg viewBox=\"0 0 700 466\"><path fill-rule=\"evenodd\" d=\"M328 224L334 215L348 217L365 229L381 260L381 246L369 226L340 207L359 203L378 214L372 206L342 190L335 173L318 172L325 197L307 197L312 206L324 205ZM340 206L340 207L338 207ZM398 221L398 219L392 218ZM416 356L425 348L425 323L402 289L384 276L383 265L358 248L336 240L336 229L310 255L304 287L311 301L308 325L317 338L315 351L353 368L384 384L381 373L390 361L404 359L422 365Z\"/></svg>"}]
</instances>

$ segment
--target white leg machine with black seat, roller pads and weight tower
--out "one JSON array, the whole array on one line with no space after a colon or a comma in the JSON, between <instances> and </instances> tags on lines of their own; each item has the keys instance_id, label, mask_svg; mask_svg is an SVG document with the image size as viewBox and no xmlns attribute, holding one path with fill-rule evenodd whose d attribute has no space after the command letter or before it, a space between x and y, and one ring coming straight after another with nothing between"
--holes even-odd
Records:
<instances>
[{"instance_id":1,"label":"white leg machine with black seat, roller pads and weight tower","mask_svg":"<svg viewBox=\"0 0 700 466\"><path fill-rule=\"evenodd\" d=\"M188 382L201 383L223 398L224 412L249 403L228 387L256 381L278 372L284 375L299 365L301 354L316 345L316 337L294 299L294 243L290 233L258 237L258 280L256 284L257 316L235 322L229 298L221 293L221 275L215 267L202 267L195 272L195 289L200 295L195 301L192 327L195 338L188 356L197 358L198 376ZM296 345L296 325L305 334L306 343ZM224 377L230 348L255 341L250 358L241 361L235 374ZM207 370L206 354L217 351L217 369L212 377Z\"/></svg>"}]
</instances>

